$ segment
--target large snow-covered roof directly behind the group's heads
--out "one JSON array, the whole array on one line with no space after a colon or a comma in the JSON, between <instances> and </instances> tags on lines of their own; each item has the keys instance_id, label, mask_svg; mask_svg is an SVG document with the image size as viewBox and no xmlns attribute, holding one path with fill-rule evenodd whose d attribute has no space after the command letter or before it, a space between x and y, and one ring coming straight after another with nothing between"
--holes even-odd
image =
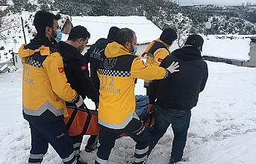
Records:
<instances>
[{"instance_id":1,"label":"large snow-covered roof directly behind the group's heads","mask_svg":"<svg viewBox=\"0 0 256 164\"><path fill-rule=\"evenodd\" d=\"M145 16L72 16L72 24L87 27L91 37L87 45L92 45L100 38L107 38L110 27L128 27L137 35L137 44L145 44L160 37L162 30ZM63 34L63 39L67 39Z\"/></svg>"}]
</instances>

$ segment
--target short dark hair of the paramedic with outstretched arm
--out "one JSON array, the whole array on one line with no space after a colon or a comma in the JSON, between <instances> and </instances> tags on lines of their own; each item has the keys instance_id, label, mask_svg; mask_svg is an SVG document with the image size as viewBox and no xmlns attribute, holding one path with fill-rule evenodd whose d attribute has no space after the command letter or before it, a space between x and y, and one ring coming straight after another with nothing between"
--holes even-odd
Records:
<instances>
[{"instance_id":1,"label":"short dark hair of the paramedic with outstretched arm","mask_svg":"<svg viewBox=\"0 0 256 164\"><path fill-rule=\"evenodd\" d=\"M125 45L125 42L132 43L134 39L134 34L135 32L129 28L121 28L116 33L116 42L123 46Z\"/></svg>"}]
</instances>

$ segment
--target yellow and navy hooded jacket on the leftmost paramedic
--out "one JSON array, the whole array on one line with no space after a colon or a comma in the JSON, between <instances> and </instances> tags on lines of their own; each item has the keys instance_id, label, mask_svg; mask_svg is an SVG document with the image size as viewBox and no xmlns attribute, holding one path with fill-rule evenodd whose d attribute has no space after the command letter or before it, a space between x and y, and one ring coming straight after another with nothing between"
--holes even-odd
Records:
<instances>
[{"instance_id":1,"label":"yellow and navy hooded jacket on the leftmost paramedic","mask_svg":"<svg viewBox=\"0 0 256 164\"><path fill-rule=\"evenodd\" d=\"M65 101L75 104L78 94L66 81L60 53L45 36L19 48L23 62L22 110L28 121L51 122L68 116Z\"/></svg>"}]
</instances>

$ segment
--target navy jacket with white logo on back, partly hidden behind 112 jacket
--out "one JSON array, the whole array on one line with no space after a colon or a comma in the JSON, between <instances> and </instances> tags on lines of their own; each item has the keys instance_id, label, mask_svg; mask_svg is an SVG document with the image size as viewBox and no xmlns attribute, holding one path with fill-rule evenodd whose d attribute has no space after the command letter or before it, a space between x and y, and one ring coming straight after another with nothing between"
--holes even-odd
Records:
<instances>
[{"instance_id":1,"label":"navy jacket with white logo on back, partly hidden behind 112 jacket","mask_svg":"<svg viewBox=\"0 0 256 164\"><path fill-rule=\"evenodd\" d=\"M92 79L93 85L98 92L99 77L97 75L97 69L102 60L106 58L104 50L107 44L110 42L112 42L110 39L101 38L95 44L93 44L89 50L87 50L87 53L84 54L87 62L90 62L90 78Z\"/></svg>"}]
</instances>

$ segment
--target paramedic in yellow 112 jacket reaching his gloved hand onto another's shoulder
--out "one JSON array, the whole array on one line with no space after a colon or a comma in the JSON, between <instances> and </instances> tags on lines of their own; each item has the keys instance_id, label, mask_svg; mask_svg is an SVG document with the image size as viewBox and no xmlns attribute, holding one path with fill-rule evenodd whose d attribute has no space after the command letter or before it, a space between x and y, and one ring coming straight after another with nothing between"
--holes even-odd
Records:
<instances>
[{"instance_id":1,"label":"paramedic in yellow 112 jacket reaching his gloved hand onto another's shoulder","mask_svg":"<svg viewBox=\"0 0 256 164\"><path fill-rule=\"evenodd\" d=\"M116 42L104 50L104 59L98 68L100 80L99 125L101 127L95 163L107 163L116 137L125 133L135 142L134 163L146 163L150 133L135 114L135 79L163 79L178 70L178 63L169 68L147 65L134 56L137 37L133 30L120 29Z\"/></svg>"}]
</instances>

